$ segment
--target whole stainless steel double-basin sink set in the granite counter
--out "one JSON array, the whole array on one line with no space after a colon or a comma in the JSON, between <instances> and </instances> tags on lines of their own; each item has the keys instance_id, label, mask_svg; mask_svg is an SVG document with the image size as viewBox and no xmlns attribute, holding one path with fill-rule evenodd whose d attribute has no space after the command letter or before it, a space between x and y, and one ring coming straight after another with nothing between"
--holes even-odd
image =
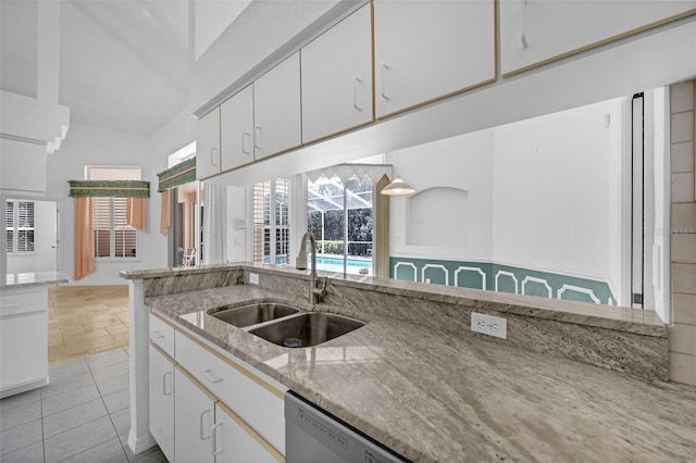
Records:
<instances>
[{"instance_id":1,"label":"whole stainless steel double-basin sink set in the granite counter","mask_svg":"<svg viewBox=\"0 0 696 463\"><path fill-rule=\"evenodd\" d=\"M288 348L312 347L364 326L364 322L327 312L307 312L282 302L261 302L208 314Z\"/></svg>"}]
</instances>

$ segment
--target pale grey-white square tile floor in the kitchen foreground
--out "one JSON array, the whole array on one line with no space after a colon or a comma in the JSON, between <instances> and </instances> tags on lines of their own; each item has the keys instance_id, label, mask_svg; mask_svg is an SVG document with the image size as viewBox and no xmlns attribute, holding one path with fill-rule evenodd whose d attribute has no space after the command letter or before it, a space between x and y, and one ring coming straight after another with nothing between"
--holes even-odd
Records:
<instances>
[{"instance_id":1,"label":"pale grey-white square tile floor in the kitchen foreground","mask_svg":"<svg viewBox=\"0 0 696 463\"><path fill-rule=\"evenodd\" d=\"M51 365L48 386L0 400L0 462L166 462L127 446L128 363L126 347Z\"/></svg>"}]
</instances>

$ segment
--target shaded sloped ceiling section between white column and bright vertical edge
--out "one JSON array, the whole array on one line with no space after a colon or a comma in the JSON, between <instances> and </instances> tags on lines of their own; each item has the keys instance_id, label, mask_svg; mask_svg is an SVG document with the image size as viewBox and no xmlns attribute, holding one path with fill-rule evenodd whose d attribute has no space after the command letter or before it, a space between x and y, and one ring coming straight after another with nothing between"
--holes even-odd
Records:
<instances>
[{"instance_id":1,"label":"shaded sloped ceiling section between white column and bright vertical edge","mask_svg":"<svg viewBox=\"0 0 696 463\"><path fill-rule=\"evenodd\" d=\"M62 2L60 104L73 121L152 133L186 107L188 29L186 1Z\"/></svg>"}]
</instances>

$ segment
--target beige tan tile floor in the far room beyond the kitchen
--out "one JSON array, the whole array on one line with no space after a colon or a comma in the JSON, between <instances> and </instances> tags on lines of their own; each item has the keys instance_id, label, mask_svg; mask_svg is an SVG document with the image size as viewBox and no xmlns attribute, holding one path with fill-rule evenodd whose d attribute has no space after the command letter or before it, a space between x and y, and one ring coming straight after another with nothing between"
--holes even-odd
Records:
<instances>
[{"instance_id":1,"label":"beige tan tile floor in the far room beyond the kitchen","mask_svg":"<svg viewBox=\"0 0 696 463\"><path fill-rule=\"evenodd\" d=\"M50 365L127 345L127 286L49 287Z\"/></svg>"}]
</instances>

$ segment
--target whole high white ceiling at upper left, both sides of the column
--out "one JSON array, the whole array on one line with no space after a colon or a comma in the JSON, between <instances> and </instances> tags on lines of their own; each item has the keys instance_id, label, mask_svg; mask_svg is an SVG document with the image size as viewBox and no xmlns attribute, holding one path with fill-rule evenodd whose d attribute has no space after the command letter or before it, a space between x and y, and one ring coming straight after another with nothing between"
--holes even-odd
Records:
<instances>
[{"instance_id":1,"label":"whole high white ceiling at upper left, both sides of the column","mask_svg":"<svg viewBox=\"0 0 696 463\"><path fill-rule=\"evenodd\" d=\"M249 1L197 3L61 0L58 102L71 121L149 135L186 109L195 57ZM41 70L39 8L37 0L2 0L2 88L30 97ZM197 28L206 33L198 47Z\"/></svg>"}]
</instances>

